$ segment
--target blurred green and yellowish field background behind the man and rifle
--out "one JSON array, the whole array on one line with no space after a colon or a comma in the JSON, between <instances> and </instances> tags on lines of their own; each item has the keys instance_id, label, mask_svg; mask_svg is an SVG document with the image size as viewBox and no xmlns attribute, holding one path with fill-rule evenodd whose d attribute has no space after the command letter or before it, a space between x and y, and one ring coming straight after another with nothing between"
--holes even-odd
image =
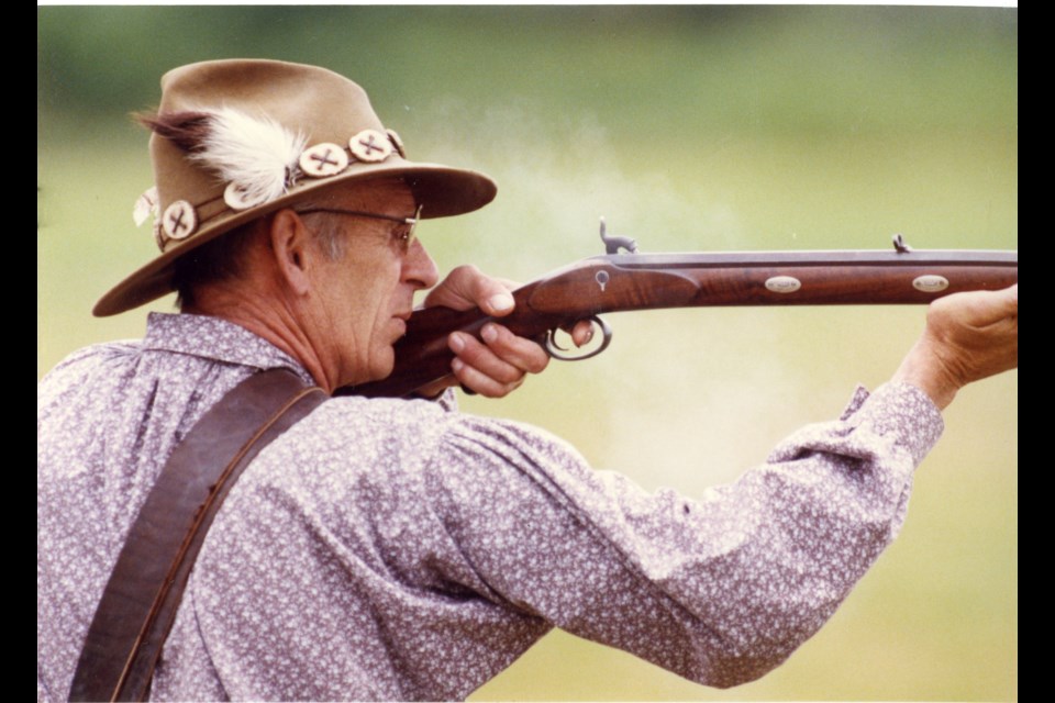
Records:
<instances>
[{"instance_id":1,"label":"blurred green and yellowish field background behind the man and rifle","mask_svg":"<svg viewBox=\"0 0 1055 703\"><path fill-rule=\"evenodd\" d=\"M864 7L38 7L37 376L154 254L129 113L168 68L253 56L360 82L410 156L484 170L497 201L426 223L443 268L528 280L600 253L1018 248L1018 11ZM171 301L152 305L170 310ZM896 368L921 308L614 315L612 347L479 413L693 493ZM899 540L831 624L758 682L707 689L555 633L478 700L1018 698L1018 375L960 393Z\"/></svg>"}]
</instances>

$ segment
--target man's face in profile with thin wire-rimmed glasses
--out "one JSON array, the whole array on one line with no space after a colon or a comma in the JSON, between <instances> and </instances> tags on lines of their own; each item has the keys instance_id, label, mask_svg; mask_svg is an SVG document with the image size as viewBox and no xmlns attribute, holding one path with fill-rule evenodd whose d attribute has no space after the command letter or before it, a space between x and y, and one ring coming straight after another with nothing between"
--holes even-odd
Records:
<instances>
[{"instance_id":1,"label":"man's face in profile with thin wire-rimmed glasses","mask_svg":"<svg viewBox=\"0 0 1055 703\"><path fill-rule=\"evenodd\" d=\"M367 182L334 196L327 207L397 217L414 215L414 199L401 181ZM409 225L360 215L327 214L343 228L344 256L319 257L313 289L316 345L337 369L338 384L391 373L392 345L407 331L414 291L435 286L435 263L420 242L406 248Z\"/></svg>"}]
</instances>

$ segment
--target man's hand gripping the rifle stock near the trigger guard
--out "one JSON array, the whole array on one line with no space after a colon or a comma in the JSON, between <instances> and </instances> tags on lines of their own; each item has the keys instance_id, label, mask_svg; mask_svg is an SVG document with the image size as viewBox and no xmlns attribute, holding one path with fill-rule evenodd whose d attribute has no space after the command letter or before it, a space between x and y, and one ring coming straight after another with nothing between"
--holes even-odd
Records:
<instances>
[{"instance_id":1,"label":"man's hand gripping the rifle stock near the trigger guard","mask_svg":"<svg viewBox=\"0 0 1055 703\"><path fill-rule=\"evenodd\" d=\"M517 283L491 278L475 266L459 266L425 298L425 308L443 305L455 310L480 308L495 317L513 311L510 291ZM573 331L577 345L589 342L589 323ZM488 398L502 398L520 387L528 373L540 373L549 364L549 355L532 339L518 337L508 328L488 323L481 331L484 342L470 334L455 332L447 339L455 354L452 371L464 388ZM438 392L441 389L427 389Z\"/></svg>"}]
</instances>

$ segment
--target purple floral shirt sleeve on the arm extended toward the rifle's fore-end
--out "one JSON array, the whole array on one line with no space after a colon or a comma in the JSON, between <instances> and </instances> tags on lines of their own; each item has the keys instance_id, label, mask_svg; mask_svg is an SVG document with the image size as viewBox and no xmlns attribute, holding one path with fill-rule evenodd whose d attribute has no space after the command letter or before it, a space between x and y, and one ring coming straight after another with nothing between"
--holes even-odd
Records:
<instances>
[{"instance_id":1,"label":"purple floral shirt sleeve on the arm extended toward the rifle's fore-end","mask_svg":"<svg viewBox=\"0 0 1055 703\"><path fill-rule=\"evenodd\" d=\"M900 529L942 428L911 386L858 389L840 420L691 499L595 471L536 428L465 417L430 471L478 593L724 688L832 615Z\"/></svg>"}]
</instances>

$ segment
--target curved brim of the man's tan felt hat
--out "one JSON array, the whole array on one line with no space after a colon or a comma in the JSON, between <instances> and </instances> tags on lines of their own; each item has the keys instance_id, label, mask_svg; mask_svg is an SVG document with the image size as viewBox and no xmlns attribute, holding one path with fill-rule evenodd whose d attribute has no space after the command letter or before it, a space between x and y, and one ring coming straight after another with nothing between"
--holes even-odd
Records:
<instances>
[{"instance_id":1,"label":"curved brim of the man's tan felt hat","mask_svg":"<svg viewBox=\"0 0 1055 703\"><path fill-rule=\"evenodd\" d=\"M423 219L447 217L478 210L495 199L498 188L484 174L438 164L415 164L399 156L384 164L352 164L340 176L299 182L285 196L242 212L230 212L202 226L114 286L92 309L97 317L116 315L157 300L173 289L174 264L215 237L246 222L303 200L309 193L340 185L401 178L422 205Z\"/></svg>"}]
</instances>

